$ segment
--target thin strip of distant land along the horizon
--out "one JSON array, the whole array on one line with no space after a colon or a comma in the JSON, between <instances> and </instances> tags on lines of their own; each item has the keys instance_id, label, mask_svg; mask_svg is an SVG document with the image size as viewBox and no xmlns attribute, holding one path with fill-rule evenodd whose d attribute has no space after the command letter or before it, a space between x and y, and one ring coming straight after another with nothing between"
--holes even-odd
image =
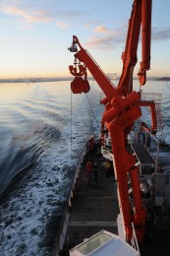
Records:
<instances>
[{"instance_id":1,"label":"thin strip of distant land along the horizon","mask_svg":"<svg viewBox=\"0 0 170 256\"><path fill-rule=\"evenodd\" d=\"M17 79L0 79L0 83L38 83L38 82L57 82L57 81L72 81L74 77L56 77L56 78L17 78ZM134 79L138 79L134 77ZM88 77L88 80L94 80ZM119 80L116 78L115 80ZM147 77L147 80L152 81L170 81L170 77Z\"/></svg>"}]
</instances>

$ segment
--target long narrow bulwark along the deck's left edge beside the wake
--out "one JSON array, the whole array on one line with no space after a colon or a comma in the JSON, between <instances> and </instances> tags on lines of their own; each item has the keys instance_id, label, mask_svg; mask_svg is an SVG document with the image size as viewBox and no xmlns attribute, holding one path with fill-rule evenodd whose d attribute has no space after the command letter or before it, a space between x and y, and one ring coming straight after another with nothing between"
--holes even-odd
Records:
<instances>
[{"instance_id":1,"label":"long narrow bulwark along the deck's left edge beside the wake","mask_svg":"<svg viewBox=\"0 0 170 256\"><path fill-rule=\"evenodd\" d=\"M75 170L75 175L71 182L70 191L69 191L68 197L67 197L67 205L65 207L65 210L63 213L63 219L61 220L61 223L59 225L58 232L57 232L57 235L56 235L56 238L54 241L52 256L58 256L59 252L63 249L65 236L66 236L66 232L67 232L67 227L68 227L69 220L70 220L70 209L72 207L72 198L74 196L76 182L79 177L79 172L81 171L81 163L84 160L86 149L87 149L87 144L85 144L83 153L82 153L80 159L78 160L77 167Z\"/></svg>"}]
</instances>

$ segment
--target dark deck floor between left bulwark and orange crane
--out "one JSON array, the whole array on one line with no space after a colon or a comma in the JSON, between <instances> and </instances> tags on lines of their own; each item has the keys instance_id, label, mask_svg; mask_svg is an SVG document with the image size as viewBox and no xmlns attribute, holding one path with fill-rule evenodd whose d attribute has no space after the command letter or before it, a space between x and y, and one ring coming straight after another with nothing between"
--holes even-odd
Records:
<instances>
[{"instance_id":1,"label":"dark deck floor between left bulwark and orange crane","mask_svg":"<svg viewBox=\"0 0 170 256\"><path fill-rule=\"evenodd\" d=\"M93 172L88 180L85 179L85 163L88 159L97 162L97 180L94 179ZM88 153L85 157L73 198L65 246L73 248L101 229L118 233L116 183L113 172L106 176L103 161L96 152Z\"/></svg>"}]
</instances>

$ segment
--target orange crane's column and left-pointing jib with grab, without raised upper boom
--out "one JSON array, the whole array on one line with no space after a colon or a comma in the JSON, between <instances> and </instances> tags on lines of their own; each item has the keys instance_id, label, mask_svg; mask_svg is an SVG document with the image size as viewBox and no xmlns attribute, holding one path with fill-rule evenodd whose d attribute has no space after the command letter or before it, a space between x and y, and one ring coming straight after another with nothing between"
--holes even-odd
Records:
<instances>
[{"instance_id":1,"label":"orange crane's column and left-pointing jib with grab, without raised upper boom","mask_svg":"<svg viewBox=\"0 0 170 256\"><path fill-rule=\"evenodd\" d=\"M137 236L139 240L142 240L145 214L142 208L138 169L135 167L136 160L134 156L129 154L126 149L126 140L130 128L133 126L135 120L142 115L142 111L139 107L141 95L137 92L132 92L126 97L121 96L117 88L113 86L74 35L72 46L69 48L70 51L76 52L75 49L78 50L77 45L79 45L81 49L75 54L75 65L81 67L80 72L77 72L77 68L74 66L69 67L71 74L77 79L75 82L73 81L71 83L71 89L73 93L76 94L84 92L83 87L82 90L80 90L81 86L79 87L79 84L82 84L83 71L87 68L106 96L106 98L102 100L106 107L102 115L101 125L104 127L104 124L106 124L111 136L115 171L117 173L117 185L121 202L120 209L124 218L127 240L130 240L132 237L132 222L138 226ZM81 63L84 63L84 65ZM103 134L101 130L101 139L102 138ZM134 184L134 190L136 190L136 213L134 215L131 214L129 201L128 173L130 173L132 180L134 180L132 184Z\"/></svg>"}]
</instances>

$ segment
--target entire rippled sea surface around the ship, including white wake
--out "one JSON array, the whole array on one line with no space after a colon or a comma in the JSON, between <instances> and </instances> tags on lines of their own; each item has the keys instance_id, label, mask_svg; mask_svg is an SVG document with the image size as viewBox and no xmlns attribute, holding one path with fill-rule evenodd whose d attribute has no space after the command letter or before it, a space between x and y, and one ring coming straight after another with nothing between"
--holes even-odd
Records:
<instances>
[{"instance_id":1,"label":"entire rippled sea surface around the ship, including white wake","mask_svg":"<svg viewBox=\"0 0 170 256\"><path fill-rule=\"evenodd\" d=\"M77 160L99 133L101 92L90 84L88 99L69 82L0 84L0 255L51 255ZM170 85L143 90L162 93L170 143Z\"/></svg>"}]
</instances>

